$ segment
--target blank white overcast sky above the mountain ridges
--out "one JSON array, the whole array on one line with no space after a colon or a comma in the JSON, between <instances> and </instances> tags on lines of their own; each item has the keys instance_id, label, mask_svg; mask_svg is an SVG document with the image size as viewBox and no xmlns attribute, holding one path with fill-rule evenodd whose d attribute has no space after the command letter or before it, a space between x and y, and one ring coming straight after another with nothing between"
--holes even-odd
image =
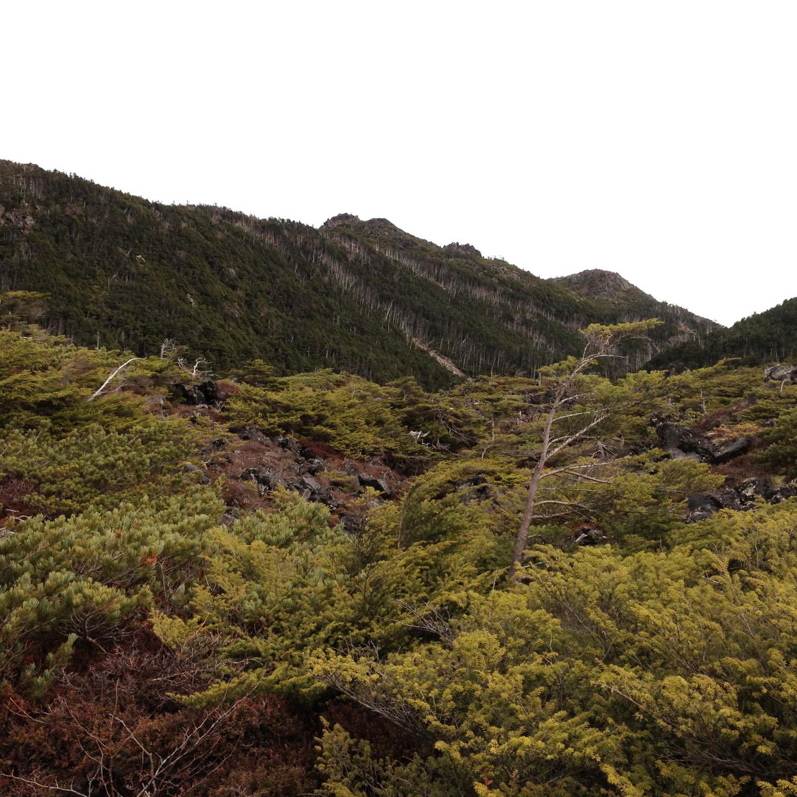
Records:
<instances>
[{"instance_id":1,"label":"blank white overcast sky above the mountain ridges","mask_svg":"<svg viewBox=\"0 0 797 797\"><path fill-rule=\"evenodd\" d=\"M0 157L383 216L730 324L797 295L797 3L6 2Z\"/></svg>"}]
</instances>

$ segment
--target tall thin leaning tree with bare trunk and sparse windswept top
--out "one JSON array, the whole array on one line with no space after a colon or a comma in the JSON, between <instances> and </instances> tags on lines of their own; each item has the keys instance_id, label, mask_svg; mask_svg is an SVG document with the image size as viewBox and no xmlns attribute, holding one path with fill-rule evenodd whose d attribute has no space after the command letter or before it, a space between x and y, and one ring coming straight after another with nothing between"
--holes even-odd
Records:
<instances>
[{"instance_id":1,"label":"tall thin leaning tree with bare trunk and sparse windswept top","mask_svg":"<svg viewBox=\"0 0 797 797\"><path fill-rule=\"evenodd\" d=\"M581 479L600 481L591 477L588 473L584 473L582 470L585 467L584 465L564 465L556 469L548 469L548 462L553 457L556 457L557 454L562 453L563 450L573 446L575 443L582 442L583 438L597 430L600 424L611 416L611 408L608 406L595 406L591 410L584 412L567 412L570 406L574 406L571 402L583 399L583 395L579 394L578 391L579 377L591 365L598 362L599 359L616 356L614 352L621 340L635 336L637 333L645 332L658 323L657 320L646 320L635 322L634 324L614 324L612 326L591 324L587 329L581 330L587 338L587 345L584 347L579 359L565 361L559 366L552 367L548 379L552 383L554 397L548 414L545 416L540 454L532 470L532 479L528 485L523 515L520 518L520 528L518 528L515 548L512 552L512 563L508 570L509 578L516 577L517 571L523 562L524 551L528 543L528 530L531 528L532 520L535 518L536 508L543 504L565 503L562 501L538 500L537 494L540 491L540 483L543 479L557 473L567 473ZM571 418L575 415L586 416L583 426L569 434L552 438L554 424L559 420Z\"/></svg>"}]
</instances>

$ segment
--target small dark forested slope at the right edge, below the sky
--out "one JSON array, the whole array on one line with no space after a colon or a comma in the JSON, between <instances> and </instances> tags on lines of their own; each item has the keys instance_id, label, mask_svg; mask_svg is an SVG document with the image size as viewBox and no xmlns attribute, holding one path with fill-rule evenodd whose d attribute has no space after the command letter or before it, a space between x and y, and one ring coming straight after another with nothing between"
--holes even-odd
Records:
<instances>
[{"instance_id":1,"label":"small dark forested slope at the right edge, below the sky","mask_svg":"<svg viewBox=\"0 0 797 797\"><path fill-rule=\"evenodd\" d=\"M725 357L742 363L779 363L797 357L797 298L661 351L650 368L699 368Z\"/></svg>"}]
</instances>

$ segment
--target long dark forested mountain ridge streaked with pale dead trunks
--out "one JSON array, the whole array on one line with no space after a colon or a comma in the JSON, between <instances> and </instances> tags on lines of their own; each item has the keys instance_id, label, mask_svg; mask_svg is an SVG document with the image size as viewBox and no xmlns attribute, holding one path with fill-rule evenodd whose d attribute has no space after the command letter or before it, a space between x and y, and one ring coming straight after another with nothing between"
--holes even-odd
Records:
<instances>
[{"instance_id":1,"label":"long dark forested mountain ridge streaked with pale dead trunks","mask_svg":"<svg viewBox=\"0 0 797 797\"><path fill-rule=\"evenodd\" d=\"M592 322L664 322L629 347L632 369L716 327L581 277L541 280L385 219L343 214L316 230L0 161L0 289L48 293L42 324L80 344L152 355L169 339L218 373L260 358L280 374L331 367L434 388L459 371L532 373L574 353Z\"/></svg>"}]
</instances>

